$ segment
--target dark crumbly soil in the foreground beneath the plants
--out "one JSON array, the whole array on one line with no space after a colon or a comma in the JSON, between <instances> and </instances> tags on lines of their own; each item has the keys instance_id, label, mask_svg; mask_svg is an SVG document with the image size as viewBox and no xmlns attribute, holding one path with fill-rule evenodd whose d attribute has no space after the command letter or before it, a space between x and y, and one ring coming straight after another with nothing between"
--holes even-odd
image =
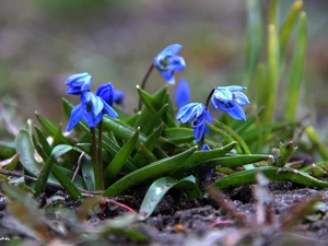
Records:
<instances>
[{"instance_id":1,"label":"dark crumbly soil in the foreground beneath the plants","mask_svg":"<svg viewBox=\"0 0 328 246\"><path fill-rule=\"evenodd\" d=\"M255 187L250 185L223 190L220 192L223 198L221 201L214 198L214 194L188 200L180 191L171 190L145 222L132 224L134 230L150 238L150 243L134 243L116 234L108 236L106 243L128 246L327 245L328 189L318 190L288 181L272 181L267 189L272 195L272 201L259 207L261 198L255 198ZM140 188L133 192L136 199L120 198L117 201L138 211L144 194L145 189ZM325 211L312 212L317 215L314 220L305 219L304 214L297 220L302 204L308 204L304 201L315 195L321 196L321 201L326 203ZM67 202L67 207L72 210L78 210L80 202ZM5 216L10 214L3 202L0 202L0 236L14 235L14 229L9 231L4 224ZM261 222L260 212L265 213ZM127 211L121 207L94 210L89 216L89 223L96 226L101 221L115 219ZM291 226L290 222L296 224ZM40 244L34 242L34 245Z\"/></svg>"}]
</instances>

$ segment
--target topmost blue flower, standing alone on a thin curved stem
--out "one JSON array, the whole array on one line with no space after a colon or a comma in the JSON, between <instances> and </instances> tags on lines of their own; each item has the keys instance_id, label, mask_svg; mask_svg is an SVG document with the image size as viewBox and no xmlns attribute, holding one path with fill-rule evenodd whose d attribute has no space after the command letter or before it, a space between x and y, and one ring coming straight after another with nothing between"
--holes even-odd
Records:
<instances>
[{"instance_id":1,"label":"topmost blue flower, standing alone on a thin curved stem","mask_svg":"<svg viewBox=\"0 0 328 246\"><path fill-rule=\"evenodd\" d=\"M169 84L175 84L174 73L186 68L185 59L177 55L181 48L178 44L169 45L154 58L153 65Z\"/></svg>"}]
</instances>

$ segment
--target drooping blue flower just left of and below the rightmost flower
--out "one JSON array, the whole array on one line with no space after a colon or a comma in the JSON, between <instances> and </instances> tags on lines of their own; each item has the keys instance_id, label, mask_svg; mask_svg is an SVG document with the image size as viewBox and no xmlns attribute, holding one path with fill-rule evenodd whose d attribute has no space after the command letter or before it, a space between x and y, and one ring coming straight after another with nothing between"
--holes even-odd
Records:
<instances>
[{"instance_id":1,"label":"drooping blue flower just left of and below the rightmost flower","mask_svg":"<svg viewBox=\"0 0 328 246\"><path fill-rule=\"evenodd\" d=\"M195 139L197 142L201 140L207 124L207 108L203 104L190 103L185 105L178 110L176 119L183 124L192 121Z\"/></svg>"}]
</instances>

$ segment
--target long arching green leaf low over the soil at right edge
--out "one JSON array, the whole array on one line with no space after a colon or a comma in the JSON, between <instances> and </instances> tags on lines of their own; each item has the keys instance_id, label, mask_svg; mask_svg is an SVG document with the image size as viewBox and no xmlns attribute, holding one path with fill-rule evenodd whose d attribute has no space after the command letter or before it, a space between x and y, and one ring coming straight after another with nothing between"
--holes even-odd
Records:
<instances>
[{"instance_id":1,"label":"long arching green leaf low over the soil at right edge","mask_svg":"<svg viewBox=\"0 0 328 246\"><path fill-rule=\"evenodd\" d=\"M256 183L256 174L258 172L261 172L271 180L293 181L296 184L317 188L328 187L328 181L321 181L317 178L309 176L304 172L294 171L286 167L279 168L276 166L263 166L254 169L241 171L219 179L213 184L213 186L220 188L227 188L254 184Z\"/></svg>"}]
</instances>

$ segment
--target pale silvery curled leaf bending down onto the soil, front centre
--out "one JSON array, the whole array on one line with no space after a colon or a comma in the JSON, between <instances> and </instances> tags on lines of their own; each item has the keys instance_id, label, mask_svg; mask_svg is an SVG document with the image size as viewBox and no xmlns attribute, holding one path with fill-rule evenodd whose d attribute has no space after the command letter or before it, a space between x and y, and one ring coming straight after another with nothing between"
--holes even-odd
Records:
<instances>
[{"instance_id":1,"label":"pale silvery curled leaf bending down onto the soil, front centre","mask_svg":"<svg viewBox=\"0 0 328 246\"><path fill-rule=\"evenodd\" d=\"M180 188L189 194L189 198L197 198L201 196L201 191L196 185L196 178L188 176L181 180L177 180L172 177L162 177L155 180L148 189L138 215L138 220L147 220L155 210L162 198L171 188Z\"/></svg>"}]
</instances>

